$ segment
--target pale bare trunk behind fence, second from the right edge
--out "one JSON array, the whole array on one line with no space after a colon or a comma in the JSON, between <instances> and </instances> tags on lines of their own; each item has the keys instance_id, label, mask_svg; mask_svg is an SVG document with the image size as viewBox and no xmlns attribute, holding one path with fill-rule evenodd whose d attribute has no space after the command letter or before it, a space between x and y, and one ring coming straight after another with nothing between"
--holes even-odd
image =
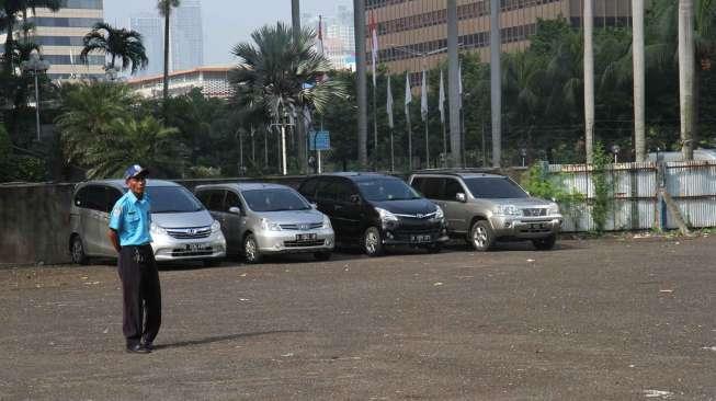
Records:
<instances>
[{"instance_id":1,"label":"pale bare trunk behind fence, second from the right edge","mask_svg":"<svg viewBox=\"0 0 716 401\"><path fill-rule=\"evenodd\" d=\"M644 62L644 0L632 0L634 55L634 147L636 161L646 160L645 131L645 62Z\"/></svg>"}]
</instances>

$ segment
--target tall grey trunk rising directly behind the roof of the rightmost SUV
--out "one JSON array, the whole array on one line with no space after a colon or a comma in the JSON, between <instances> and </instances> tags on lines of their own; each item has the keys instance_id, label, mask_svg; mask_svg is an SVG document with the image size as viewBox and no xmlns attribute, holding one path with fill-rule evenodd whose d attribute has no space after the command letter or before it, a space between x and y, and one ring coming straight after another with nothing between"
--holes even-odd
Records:
<instances>
[{"instance_id":1,"label":"tall grey trunk rising directly behind the roof of the rightmost SUV","mask_svg":"<svg viewBox=\"0 0 716 401\"><path fill-rule=\"evenodd\" d=\"M447 0L447 106L450 111L451 165L462 168L463 146L459 122L459 58L457 56L457 1Z\"/></svg>"}]
</instances>

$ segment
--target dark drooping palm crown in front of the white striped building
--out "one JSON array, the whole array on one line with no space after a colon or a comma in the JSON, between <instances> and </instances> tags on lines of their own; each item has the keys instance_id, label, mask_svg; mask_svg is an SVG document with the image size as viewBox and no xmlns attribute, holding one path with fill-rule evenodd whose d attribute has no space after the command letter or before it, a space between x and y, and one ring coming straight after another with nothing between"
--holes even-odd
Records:
<instances>
[{"instance_id":1,"label":"dark drooping palm crown in front of the white striped building","mask_svg":"<svg viewBox=\"0 0 716 401\"><path fill-rule=\"evenodd\" d=\"M149 64L145 46L141 43L141 34L136 31L116 28L105 22L98 22L92 31L82 39L84 48L80 54L80 60L88 62L88 55L91 53L103 53L112 59L105 69L114 68L116 59L122 60L122 70L130 68L132 73L144 69Z\"/></svg>"}]
</instances>

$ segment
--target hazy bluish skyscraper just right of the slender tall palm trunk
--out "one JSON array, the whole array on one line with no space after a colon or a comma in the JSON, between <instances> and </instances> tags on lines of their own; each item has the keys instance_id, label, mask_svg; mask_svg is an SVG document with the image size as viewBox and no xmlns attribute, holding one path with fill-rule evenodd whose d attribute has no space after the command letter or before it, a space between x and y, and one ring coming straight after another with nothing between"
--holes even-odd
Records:
<instances>
[{"instance_id":1,"label":"hazy bluish skyscraper just right of the slender tall palm trunk","mask_svg":"<svg viewBox=\"0 0 716 401\"><path fill-rule=\"evenodd\" d=\"M204 65L204 30L202 4L184 0L172 10L169 35L171 38L171 71L182 71ZM163 31L163 30L162 30Z\"/></svg>"}]
</instances>

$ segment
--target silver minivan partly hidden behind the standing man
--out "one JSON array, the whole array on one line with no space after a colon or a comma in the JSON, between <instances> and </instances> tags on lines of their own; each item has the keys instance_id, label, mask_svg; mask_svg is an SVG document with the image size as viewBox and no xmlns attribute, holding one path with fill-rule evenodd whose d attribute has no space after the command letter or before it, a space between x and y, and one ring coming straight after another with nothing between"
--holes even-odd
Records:
<instances>
[{"instance_id":1,"label":"silver minivan partly hidden behind the standing man","mask_svg":"<svg viewBox=\"0 0 716 401\"><path fill-rule=\"evenodd\" d=\"M70 207L72 262L116 257L107 237L110 213L127 190L123 180L77 184ZM189 190L171 181L147 180L146 193L151 198L151 247L158 262L201 260L216 265L226 256L219 222Z\"/></svg>"}]
</instances>

